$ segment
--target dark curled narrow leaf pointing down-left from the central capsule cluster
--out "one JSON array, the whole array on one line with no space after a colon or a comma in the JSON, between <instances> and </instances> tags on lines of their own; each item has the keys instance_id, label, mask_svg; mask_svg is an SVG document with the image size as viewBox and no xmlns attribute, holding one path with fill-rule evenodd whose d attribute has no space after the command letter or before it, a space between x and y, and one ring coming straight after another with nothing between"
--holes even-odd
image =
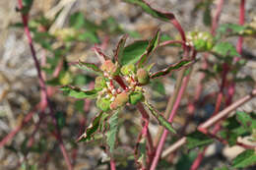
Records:
<instances>
[{"instance_id":1,"label":"dark curled narrow leaf pointing down-left from the central capsule cluster","mask_svg":"<svg viewBox=\"0 0 256 170\"><path fill-rule=\"evenodd\" d=\"M96 131L99 129L102 115L103 115L103 112L100 112L98 115L96 115L93 122L86 129L86 132L82 136L80 136L77 142L87 142L87 141L93 140L96 134Z\"/></svg>"}]
</instances>

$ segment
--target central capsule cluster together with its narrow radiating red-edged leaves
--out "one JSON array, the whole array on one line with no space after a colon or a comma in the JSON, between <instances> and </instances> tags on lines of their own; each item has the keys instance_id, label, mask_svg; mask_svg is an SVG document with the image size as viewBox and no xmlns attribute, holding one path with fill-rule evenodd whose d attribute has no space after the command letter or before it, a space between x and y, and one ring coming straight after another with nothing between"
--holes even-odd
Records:
<instances>
[{"instance_id":1,"label":"central capsule cluster together with its narrow radiating red-edged leaves","mask_svg":"<svg viewBox=\"0 0 256 170\"><path fill-rule=\"evenodd\" d=\"M79 62L80 68L96 73L97 77L94 89L84 90L70 85L62 87L65 93L73 97L96 98L96 107L101 110L100 114L98 114L93 121L92 126L86 130L86 133L81 136L79 141L91 140L94 137L96 131L99 130L99 124L105 121L101 119L102 115L109 119L113 111L119 112L125 105L137 105L139 102L144 103L145 106L149 108L160 125L168 131L175 133L170 123L149 104L148 99L145 97L145 89L143 86L148 85L151 79L159 78L173 70L188 66L191 61L182 60L163 71L151 73L150 70L153 65L144 66L144 64L150 54L159 46L160 30L158 30L152 40L149 41L145 52L138 58L138 61L136 61L136 64L134 63L135 61L133 61L133 63L121 65L120 60L123 59L123 53L125 52L126 38L127 35L124 35L119 41L114 57L112 57L113 60L104 55L97 47L94 48L96 55L102 61L100 67L92 63ZM92 131L94 132L92 133Z\"/></svg>"}]
</instances>

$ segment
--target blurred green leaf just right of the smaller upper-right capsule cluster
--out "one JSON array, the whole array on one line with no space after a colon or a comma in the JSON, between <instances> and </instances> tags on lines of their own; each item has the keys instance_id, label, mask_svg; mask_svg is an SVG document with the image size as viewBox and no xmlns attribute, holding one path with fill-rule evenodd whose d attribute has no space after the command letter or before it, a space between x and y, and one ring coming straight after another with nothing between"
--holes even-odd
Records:
<instances>
[{"instance_id":1,"label":"blurred green leaf just right of the smaller upper-right capsule cluster","mask_svg":"<svg viewBox=\"0 0 256 170\"><path fill-rule=\"evenodd\" d=\"M213 48L213 52L222 57L240 56L240 54L238 54L236 52L235 47L229 42L220 42L220 43L216 44Z\"/></svg>"}]
</instances>

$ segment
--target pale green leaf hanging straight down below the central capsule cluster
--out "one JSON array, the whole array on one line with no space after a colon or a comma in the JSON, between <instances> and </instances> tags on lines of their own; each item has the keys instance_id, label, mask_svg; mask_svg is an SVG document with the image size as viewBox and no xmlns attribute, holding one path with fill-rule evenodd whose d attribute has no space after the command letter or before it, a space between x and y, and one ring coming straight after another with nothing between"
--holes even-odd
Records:
<instances>
[{"instance_id":1,"label":"pale green leaf hanging straight down below the central capsule cluster","mask_svg":"<svg viewBox=\"0 0 256 170\"><path fill-rule=\"evenodd\" d=\"M106 133L106 142L109 146L110 153L114 150L114 144L118 133L118 111L115 112L108 120L109 130Z\"/></svg>"}]
</instances>

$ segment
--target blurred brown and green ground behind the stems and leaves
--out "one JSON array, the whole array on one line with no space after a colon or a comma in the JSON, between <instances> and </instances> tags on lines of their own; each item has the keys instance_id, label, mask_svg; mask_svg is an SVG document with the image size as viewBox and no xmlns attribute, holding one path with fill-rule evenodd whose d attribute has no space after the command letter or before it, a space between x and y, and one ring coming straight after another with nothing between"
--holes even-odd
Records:
<instances>
[{"instance_id":1,"label":"blurred brown and green ground behind the stems and leaves","mask_svg":"<svg viewBox=\"0 0 256 170\"><path fill-rule=\"evenodd\" d=\"M175 14L186 31L210 30L210 16L216 12L216 0L149 0L153 7ZM221 15L222 23L238 23L239 0L225 1ZM22 28L21 15L15 0L0 1L0 141L10 132L21 126L19 133L0 148L0 169L3 170L57 170L67 169L58 142L52 135L53 125L48 110L40 117L35 111L32 119L23 124L23 119L34 110L40 102L40 91L36 70L28 39ZM79 85L90 88L95 75L79 70L73 65L78 60L98 63L92 50L100 45L104 53L112 56L113 49L124 33L129 34L128 43L139 39L150 39L157 28L165 38L176 38L178 33L172 25L160 22L145 14L141 8L121 0L34 0L30 12L30 28L35 44L37 58L41 63L43 76L53 103L58 125L61 128L63 142L68 150L75 169L108 169L107 156L100 141L77 143L77 138L89 126L97 113L95 101L78 100L64 96L58 85ZM246 1L246 23L256 21L256 1ZM237 37L228 39L235 44ZM256 80L256 41L245 38L243 56L246 67L240 76L250 76ZM201 57L201 54L198 58ZM160 48L150 63L156 63L153 71L165 68L180 59L179 48ZM186 104L193 98L198 84L198 70L201 62L193 69L193 76L183 96L179 114L175 118L175 128L184 125ZM173 92L176 74L153 82L148 86L148 96L160 111L164 111L168 97ZM57 86L56 86L57 85ZM243 96L254 87L254 83L237 84L234 100ZM216 80L207 80L204 84L202 98L218 91ZM206 120L215 107L215 98L208 98L206 104L196 109L196 115L188 132ZM252 100L239 110L252 112L256 110L256 100ZM40 123L38 123L40 122ZM116 151L117 169L135 169L131 156L133 144L140 129L140 114L129 107L121 116L124 126L120 128ZM153 120L150 127L156 135L158 124ZM155 133L155 134L154 134ZM31 139L33 141L31 142ZM169 142L170 139L169 139ZM28 144L30 143L30 144ZM133 143L133 144L131 144ZM196 150L197 151L197 150ZM196 151L179 152L180 155L168 167L162 169L182 168L182 161L191 164ZM200 169L210 170L228 162L241 151L241 148L229 148L220 143L211 145ZM185 161L184 161L185 160ZM164 162L161 162L164 164Z\"/></svg>"}]
</instances>

